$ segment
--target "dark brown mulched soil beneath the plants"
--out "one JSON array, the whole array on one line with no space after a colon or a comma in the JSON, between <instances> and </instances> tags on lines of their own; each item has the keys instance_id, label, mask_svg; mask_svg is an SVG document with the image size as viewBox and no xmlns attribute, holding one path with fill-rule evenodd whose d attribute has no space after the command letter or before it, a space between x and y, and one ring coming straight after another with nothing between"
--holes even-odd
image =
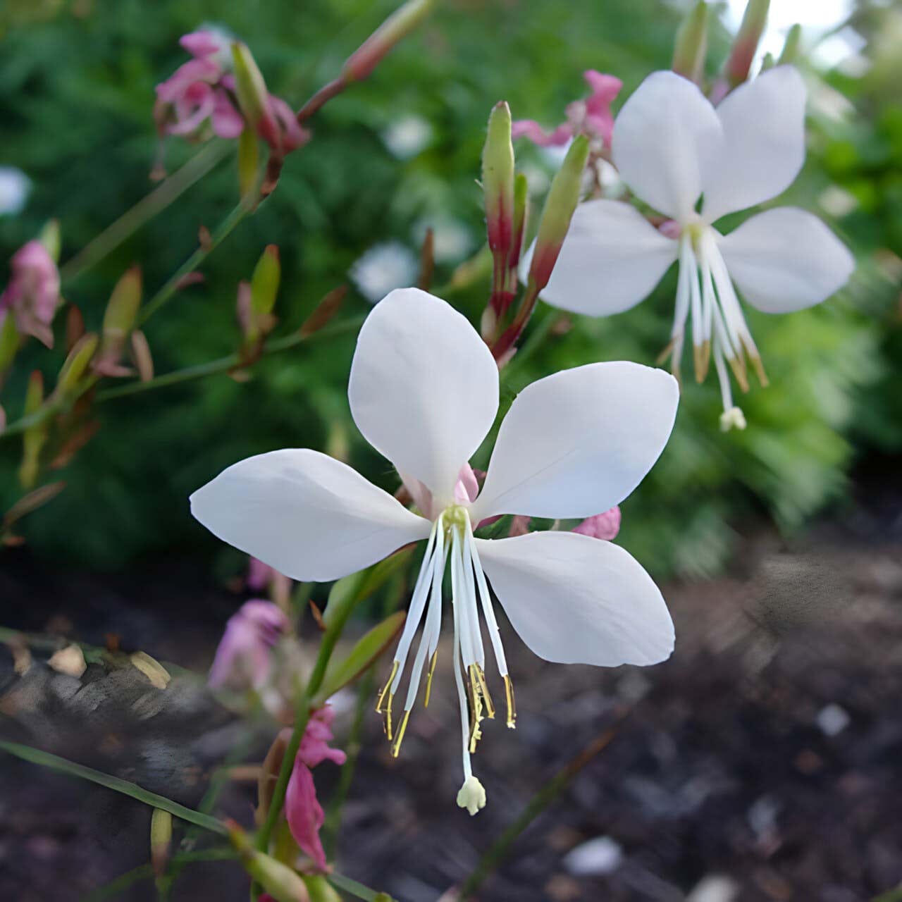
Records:
<instances>
[{"instance_id":1,"label":"dark brown mulched soil beneath the plants","mask_svg":"<svg viewBox=\"0 0 902 902\"><path fill-rule=\"evenodd\" d=\"M805 547L749 539L730 578L665 586L677 642L659 667L549 665L508 640L518 728L483 725L474 768L489 804L472 819L454 804L450 675L439 667L400 759L368 713L338 869L401 902L435 902L597 741L483 884L482 902L861 902L897 887L902 523L896 505L871 510ZM130 578L54 573L17 551L0 573L0 622L99 645L113 633L126 650L204 672L237 601L202 576L173 561ZM187 805L230 752L259 761L274 731L258 723L249 735L189 676L161 690L133 667L92 664L76 678L48 667L49 652L32 654L19 675L0 646L3 738ZM338 744L350 717L336 720ZM69 902L148 860L142 805L0 756L0 899ZM324 801L336 775L317 770ZM252 785L231 784L217 812L249 826L253 803ZM608 841L584 846L599 837ZM151 880L115 896L155 897ZM170 895L233 899L247 899L247 882L230 862L190 866Z\"/></svg>"}]
</instances>

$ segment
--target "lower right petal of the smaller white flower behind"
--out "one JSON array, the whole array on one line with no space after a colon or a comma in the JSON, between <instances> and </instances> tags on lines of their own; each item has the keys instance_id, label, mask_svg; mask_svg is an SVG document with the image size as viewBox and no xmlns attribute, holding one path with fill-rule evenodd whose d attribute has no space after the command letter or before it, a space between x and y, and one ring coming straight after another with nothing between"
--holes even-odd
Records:
<instances>
[{"instance_id":1,"label":"lower right petal of the smaller white flower behind","mask_svg":"<svg viewBox=\"0 0 902 902\"><path fill-rule=\"evenodd\" d=\"M718 240L727 269L750 304L765 313L812 307L840 290L855 258L805 210L777 207Z\"/></svg>"}]
</instances>

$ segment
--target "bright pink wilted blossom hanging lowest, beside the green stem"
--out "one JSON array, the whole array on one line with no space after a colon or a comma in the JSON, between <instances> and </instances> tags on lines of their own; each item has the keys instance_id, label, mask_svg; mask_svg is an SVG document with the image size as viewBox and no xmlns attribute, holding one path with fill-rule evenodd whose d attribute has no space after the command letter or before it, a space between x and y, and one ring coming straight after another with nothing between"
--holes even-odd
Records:
<instances>
[{"instance_id":1,"label":"bright pink wilted blossom hanging lowest, beside the green stem","mask_svg":"<svg viewBox=\"0 0 902 902\"><path fill-rule=\"evenodd\" d=\"M332 740L334 719L335 712L329 707L319 708L310 715L285 793L285 817L291 835L300 851L313 860L318 870L327 870L326 853L319 840L319 828L323 825L324 815L317 799L311 768L325 760L339 765L345 763L345 752L329 748L327 744Z\"/></svg>"}]
</instances>

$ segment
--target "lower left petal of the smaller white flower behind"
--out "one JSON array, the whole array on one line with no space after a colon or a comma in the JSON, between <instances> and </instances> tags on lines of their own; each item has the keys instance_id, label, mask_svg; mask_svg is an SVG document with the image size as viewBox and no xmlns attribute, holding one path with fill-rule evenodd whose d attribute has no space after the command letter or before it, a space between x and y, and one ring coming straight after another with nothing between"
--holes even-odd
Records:
<instances>
[{"instance_id":1,"label":"lower left petal of the smaller white flower behind","mask_svg":"<svg viewBox=\"0 0 902 902\"><path fill-rule=\"evenodd\" d=\"M590 317L621 313L649 295L677 246L630 204L590 200L576 207L542 299Z\"/></svg>"}]
</instances>

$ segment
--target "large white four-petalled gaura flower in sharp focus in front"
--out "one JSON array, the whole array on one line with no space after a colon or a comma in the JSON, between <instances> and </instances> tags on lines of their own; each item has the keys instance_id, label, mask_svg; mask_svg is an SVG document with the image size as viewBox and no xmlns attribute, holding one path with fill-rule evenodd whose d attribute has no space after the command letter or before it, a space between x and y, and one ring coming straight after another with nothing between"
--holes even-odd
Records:
<instances>
[{"instance_id":1,"label":"large white four-petalled gaura flower in sharp focus in front","mask_svg":"<svg viewBox=\"0 0 902 902\"><path fill-rule=\"evenodd\" d=\"M228 467L191 496L191 512L219 538L305 581L338 579L427 540L377 710L397 755L427 662L428 704L447 567L464 761L457 801L475 814L485 796L470 754L483 717L495 714L483 628L502 676L508 726L515 717L490 584L514 630L549 661L655 664L673 649L674 630L657 586L611 542L573 532L487 540L475 538L474 528L501 514L582 518L620 503L667 443L676 380L640 364L609 363L532 383L502 422L479 492L468 461L498 411L498 367L445 301L401 289L377 304L360 330L348 398L357 427L397 468L421 515L349 466L306 448ZM393 724L411 657L400 723Z\"/></svg>"}]
</instances>

